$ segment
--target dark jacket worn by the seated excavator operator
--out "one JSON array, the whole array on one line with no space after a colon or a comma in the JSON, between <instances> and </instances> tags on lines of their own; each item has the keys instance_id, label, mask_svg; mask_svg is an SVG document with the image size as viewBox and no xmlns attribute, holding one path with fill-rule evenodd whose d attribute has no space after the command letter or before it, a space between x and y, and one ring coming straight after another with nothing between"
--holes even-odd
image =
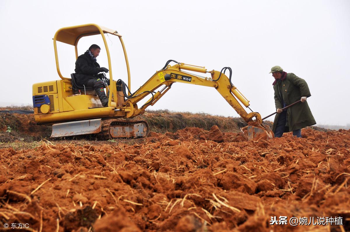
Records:
<instances>
[{"instance_id":1,"label":"dark jacket worn by the seated excavator operator","mask_svg":"<svg viewBox=\"0 0 350 232\"><path fill-rule=\"evenodd\" d=\"M99 67L100 65L97 62L94 62L91 58L89 51L78 56L78 59L75 62L75 77L78 84L86 79L97 78Z\"/></svg>"}]
</instances>

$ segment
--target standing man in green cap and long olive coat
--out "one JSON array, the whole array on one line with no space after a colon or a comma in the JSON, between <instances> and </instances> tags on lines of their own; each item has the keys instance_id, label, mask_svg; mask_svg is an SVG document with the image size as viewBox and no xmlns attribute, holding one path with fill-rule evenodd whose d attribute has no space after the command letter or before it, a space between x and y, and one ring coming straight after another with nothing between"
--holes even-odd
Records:
<instances>
[{"instance_id":1,"label":"standing man in green cap and long olive coat","mask_svg":"<svg viewBox=\"0 0 350 232\"><path fill-rule=\"evenodd\" d=\"M272 131L275 137L281 137L283 133L293 131L293 135L300 138L301 128L316 124L306 102L306 98L311 96L309 87L304 79L297 77L294 73L284 72L280 66L273 66L269 73L272 73L275 78L272 85L278 113L275 116ZM301 102L281 110L299 100Z\"/></svg>"}]
</instances>

